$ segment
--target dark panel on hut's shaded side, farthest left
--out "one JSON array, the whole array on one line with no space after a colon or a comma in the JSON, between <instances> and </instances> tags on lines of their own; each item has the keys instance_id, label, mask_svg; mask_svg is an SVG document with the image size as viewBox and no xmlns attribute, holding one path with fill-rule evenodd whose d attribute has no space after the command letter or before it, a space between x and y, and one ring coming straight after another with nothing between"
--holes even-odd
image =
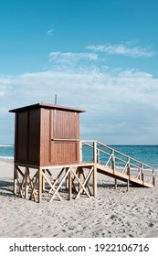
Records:
<instances>
[{"instance_id":1,"label":"dark panel on hut's shaded side, farthest left","mask_svg":"<svg viewBox=\"0 0 158 256\"><path fill-rule=\"evenodd\" d=\"M27 112L16 113L16 161L27 159Z\"/></svg>"}]
</instances>

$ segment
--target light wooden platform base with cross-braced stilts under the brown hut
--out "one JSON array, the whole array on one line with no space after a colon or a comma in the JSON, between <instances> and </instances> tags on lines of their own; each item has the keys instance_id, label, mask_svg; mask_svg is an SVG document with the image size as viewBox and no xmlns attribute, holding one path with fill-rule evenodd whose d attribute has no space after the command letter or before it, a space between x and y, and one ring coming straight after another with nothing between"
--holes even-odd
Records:
<instances>
[{"instance_id":1,"label":"light wooden platform base with cross-braced stilts under the brown hut","mask_svg":"<svg viewBox=\"0 0 158 256\"><path fill-rule=\"evenodd\" d=\"M64 193L63 193L64 192ZM97 197L97 169L92 163L79 165L57 165L33 168L15 164L14 193L16 196L41 202L78 199L81 194Z\"/></svg>"}]
</instances>

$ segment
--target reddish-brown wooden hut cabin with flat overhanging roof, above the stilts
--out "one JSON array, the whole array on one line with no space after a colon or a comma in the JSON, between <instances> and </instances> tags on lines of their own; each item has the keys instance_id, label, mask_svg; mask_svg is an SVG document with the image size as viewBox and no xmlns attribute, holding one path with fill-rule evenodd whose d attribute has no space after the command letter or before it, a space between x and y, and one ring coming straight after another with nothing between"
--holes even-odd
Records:
<instances>
[{"instance_id":1,"label":"reddish-brown wooden hut cabin with flat overhanging roof, above the stilts","mask_svg":"<svg viewBox=\"0 0 158 256\"><path fill-rule=\"evenodd\" d=\"M79 163L79 112L37 103L16 112L15 162L32 166Z\"/></svg>"}]
</instances>

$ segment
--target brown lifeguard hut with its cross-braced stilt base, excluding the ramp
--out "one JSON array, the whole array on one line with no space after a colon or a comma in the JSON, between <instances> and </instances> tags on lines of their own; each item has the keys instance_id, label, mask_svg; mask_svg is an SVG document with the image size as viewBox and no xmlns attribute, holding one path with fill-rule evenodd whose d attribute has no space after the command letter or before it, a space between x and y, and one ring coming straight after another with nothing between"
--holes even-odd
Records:
<instances>
[{"instance_id":1,"label":"brown lifeguard hut with its cross-braced stilt base, excluding the ramp","mask_svg":"<svg viewBox=\"0 0 158 256\"><path fill-rule=\"evenodd\" d=\"M96 196L96 189L91 193L88 184L94 168L90 164L84 165L89 170L86 178L81 164L79 113L85 111L37 103L10 112L16 113L16 195L35 200L38 197L38 202L41 202L42 194L49 187L50 201L56 196L61 200L58 190L65 182L68 199L72 189L76 191L76 197L83 191L89 196ZM96 180L95 176L93 180Z\"/></svg>"}]
</instances>

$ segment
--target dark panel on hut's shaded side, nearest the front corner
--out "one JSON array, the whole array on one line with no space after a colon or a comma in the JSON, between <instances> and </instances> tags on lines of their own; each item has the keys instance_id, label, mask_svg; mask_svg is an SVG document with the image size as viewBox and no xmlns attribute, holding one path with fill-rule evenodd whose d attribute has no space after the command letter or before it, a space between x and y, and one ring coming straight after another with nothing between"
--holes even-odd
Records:
<instances>
[{"instance_id":1,"label":"dark panel on hut's shaded side, nearest the front corner","mask_svg":"<svg viewBox=\"0 0 158 256\"><path fill-rule=\"evenodd\" d=\"M28 112L28 162L39 164L40 115L39 109Z\"/></svg>"}]
</instances>

